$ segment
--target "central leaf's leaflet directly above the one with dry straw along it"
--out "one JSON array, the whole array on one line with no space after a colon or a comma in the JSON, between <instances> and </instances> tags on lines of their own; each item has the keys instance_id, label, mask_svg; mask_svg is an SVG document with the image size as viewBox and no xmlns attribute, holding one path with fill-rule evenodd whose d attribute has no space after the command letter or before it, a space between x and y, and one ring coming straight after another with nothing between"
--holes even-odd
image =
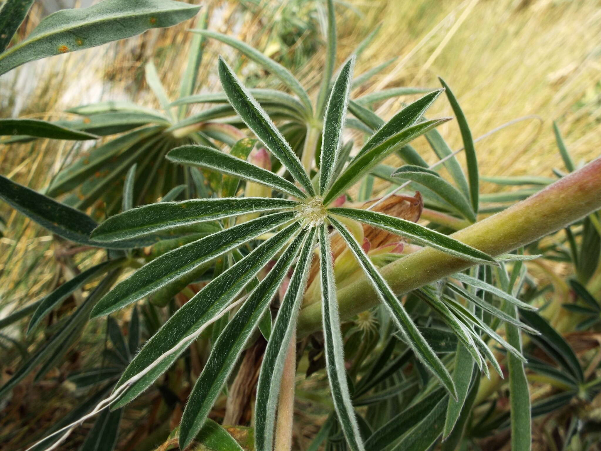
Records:
<instances>
[{"instance_id":1,"label":"central leaf's leaflet directly above the one with dry straw along it","mask_svg":"<svg viewBox=\"0 0 601 451\"><path fill-rule=\"evenodd\" d=\"M138 299L142 299L166 284L194 271L204 262L292 219L294 219L294 213L291 212L262 216L169 251L142 266L127 280L117 284L94 307L92 316L103 316L138 301Z\"/></svg>"}]
</instances>

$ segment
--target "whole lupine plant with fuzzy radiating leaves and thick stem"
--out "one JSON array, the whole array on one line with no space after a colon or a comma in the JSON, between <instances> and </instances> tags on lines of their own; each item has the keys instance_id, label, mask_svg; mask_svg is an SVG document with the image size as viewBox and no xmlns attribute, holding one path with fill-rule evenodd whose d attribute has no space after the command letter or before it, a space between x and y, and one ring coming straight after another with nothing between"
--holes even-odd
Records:
<instances>
[{"instance_id":1,"label":"whole lupine plant with fuzzy radiating leaves and thick stem","mask_svg":"<svg viewBox=\"0 0 601 451\"><path fill-rule=\"evenodd\" d=\"M537 312L544 291L537 288L526 265L539 254L573 262L578 277L571 286L581 300L565 308L585 317L579 327L596 324L600 309L593 292L599 262L596 210L601 207L601 161L576 170L556 128L567 170L574 172L557 171L558 182L511 207L482 206L483 200L519 200L524 193L504 198L480 194L478 140L472 138L450 88L441 80L441 90L399 88L350 100L360 49L334 71L334 8L332 2L328 5L326 70L315 105L283 66L206 29L198 30L198 35L238 49L281 79L296 97L247 89L222 58L218 73L223 93L188 95L201 57L200 37L192 47L181 100L170 103L157 88L153 66L147 66L148 84L162 98L164 111L144 114L165 118L173 114L152 135L169 142L159 146L160 140L147 143L138 137L115 151L118 167L107 160L96 167L114 171L117 175L111 180L124 175L118 186L108 183L97 191L110 188L110 211L121 210L100 225L79 209L0 177L0 197L15 209L63 239L86 249L106 250L106 261L0 320L0 327L5 327L31 315L32 333L76 290L101 277L83 302L63 316L49 339L23 359L0 388L1 398L29 373L35 370L39 381L64 360L90 317L112 315L103 320L111 343L103 355L110 363L72 372L67 379L76 390L96 390L29 449L56 449L94 416L98 418L83 449L114 449L130 403L153 387L165 403L173 402L172 388L161 378L174 376L178 365L188 365L199 343L210 343L210 351L203 353L198 377L189 378L193 387L179 426L162 437L167 441L160 449L177 444L185 449L197 443L198 449L239 451L242 442L257 451L291 449L297 342L308 354L307 375L323 370L328 388L321 393L331 394L331 403L321 403L331 408L311 450L323 443L328 450L426 450L436 443L452 450L508 428L511 449L529 450L531 417L561 412L596 394L598 378L590 368L583 369L569 343L544 319L550 318L549 311ZM388 121L369 109L388 96L419 91L427 94ZM442 92L459 124L467 177L456 152L435 129L449 118L424 117ZM195 102L224 103L217 108L227 111L229 119L212 122L218 117L207 114L216 109L201 112L205 114L201 118L185 118L186 110L180 108ZM130 110L139 108L128 105ZM178 108L177 115L172 107ZM90 118L105 113L118 117L123 112L115 111L119 108L83 106L80 112ZM348 111L354 118L347 117ZM343 143L349 123L367 135L358 149L352 142ZM179 126L169 130L174 124ZM251 137L242 132L244 127ZM115 146L147 128L146 121L136 123L133 131L104 146ZM26 133L19 133L34 135L23 130ZM175 139L175 133L181 136ZM409 146L422 135L439 157L434 165L427 165ZM218 143L229 149L222 150ZM142 148L144 152L136 153ZM93 152L99 149L102 146ZM383 164L393 154L405 164L398 168ZM85 168L86 158L62 173L81 171L61 192L94 181ZM146 169L140 171L150 167L152 159L157 160L154 167L180 171L184 182L188 174L191 182L180 186L178 177L162 182L158 170L150 176ZM439 174L440 167L448 170L453 183ZM374 177L397 188L368 201ZM162 183L159 189L141 196L144 189L139 183L152 186L155 180ZM357 202L352 202L355 185L359 185ZM404 188L418 188L421 194L395 195ZM58 194L51 190L52 185L46 194ZM186 199L174 201L180 195ZM156 198L161 201L133 208ZM91 202L72 205L82 208ZM502 211L477 222L478 214L489 210ZM429 221L427 227L416 223L420 218ZM537 241L562 227L567 227L564 241L548 247ZM535 244L524 248L532 241ZM132 268L136 271L120 280ZM184 300L180 297L175 303L174 296L182 293ZM115 318L132 305L130 314L124 315L128 327L119 327ZM167 313L165 321L157 313L160 308ZM148 339L138 349L142 332ZM266 345L259 359L252 435L236 441L212 420L219 417L214 405L228 387L233 391L234 385L246 382L237 380L245 374L240 357L245 350L249 355L261 340ZM532 373L551 380L555 391L531 408L526 376ZM497 408L495 399L487 400L491 391L500 389L504 376L510 387L508 410ZM483 403L489 403L486 411L474 413L473 408ZM566 440L575 436L578 424L578 416L572 416ZM563 433L565 428L558 429Z\"/></svg>"}]
</instances>

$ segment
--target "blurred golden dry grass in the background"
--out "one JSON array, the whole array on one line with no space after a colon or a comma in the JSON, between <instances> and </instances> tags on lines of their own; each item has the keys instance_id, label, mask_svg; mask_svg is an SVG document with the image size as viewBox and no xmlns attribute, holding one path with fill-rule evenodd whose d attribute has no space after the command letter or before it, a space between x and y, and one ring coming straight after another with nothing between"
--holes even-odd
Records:
<instances>
[{"instance_id":1,"label":"blurred golden dry grass in the background","mask_svg":"<svg viewBox=\"0 0 601 451\"><path fill-rule=\"evenodd\" d=\"M276 0L251 9L242 8L234 0L203 4L211 11L211 29L239 37L261 50L269 46L270 33L278 26L273 20L274 11L281 11L281 3ZM355 95L404 85L438 87L436 77L442 76L465 110L474 137L516 118L540 117L542 124L535 119L520 121L478 143L482 174L549 175L551 168L562 168L552 120L558 121L576 162L599 156L599 0L352 0L350 4L354 9L337 7L338 61L346 58L379 23L382 29L358 61L356 73L397 57ZM362 16L356 10L362 11ZM31 29L37 22L34 14L26 28ZM175 97L191 37L187 29L193 25L189 21L102 48L23 66L2 84L0 114L67 118L64 109L108 99L132 99L153 106L154 99L142 81L142 67L150 58ZM197 91L219 90L215 75L218 54L239 61L242 73L254 71L261 75L237 52L209 41ZM297 71L313 95L323 58L323 52L318 52ZM269 78L260 82L274 85ZM407 99L384 102L377 112L390 117L400 108L401 100ZM451 109L441 98L430 115L451 115ZM454 121L444 124L440 131L454 149L462 146ZM40 140L0 146L1 173L42 189L63 164L71 145ZM435 161L425 140L417 140L415 147L428 161ZM490 184L483 188L495 189ZM0 239L2 303L38 298L43 293L40 283L54 280L56 243L50 241L47 232L4 204L0 214L8 230L7 236ZM37 283L28 280L30 274L35 274Z\"/></svg>"}]
</instances>

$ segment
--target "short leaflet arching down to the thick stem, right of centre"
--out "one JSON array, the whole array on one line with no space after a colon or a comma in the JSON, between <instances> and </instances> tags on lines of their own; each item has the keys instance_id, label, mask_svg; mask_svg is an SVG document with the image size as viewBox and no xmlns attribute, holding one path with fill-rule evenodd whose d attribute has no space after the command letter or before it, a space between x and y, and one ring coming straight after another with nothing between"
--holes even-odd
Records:
<instances>
[{"instance_id":1,"label":"short leaflet arching down to the thick stem, right of centre","mask_svg":"<svg viewBox=\"0 0 601 451\"><path fill-rule=\"evenodd\" d=\"M466 219L469 219L471 222L476 222L474 210L472 210L472 207L465 196L437 173L433 174L426 168L419 166L405 165L394 171L392 177L411 180L412 182L419 183L420 185L426 186L426 188L432 189L432 191L436 192L436 194L451 204L451 206Z\"/></svg>"}]
</instances>

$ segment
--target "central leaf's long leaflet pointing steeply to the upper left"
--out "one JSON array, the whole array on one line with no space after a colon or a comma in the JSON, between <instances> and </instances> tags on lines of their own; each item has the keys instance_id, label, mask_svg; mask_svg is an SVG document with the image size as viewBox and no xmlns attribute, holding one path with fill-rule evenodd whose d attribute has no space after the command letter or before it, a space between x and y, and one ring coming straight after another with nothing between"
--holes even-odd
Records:
<instances>
[{"instance_id":1,"label":"central leaf's long leaflet pointing steeply to the upper left","mask_svg":"<svg viewBox=\"0 0 601 451\"><path fill-rule=\"evenodd\" d=\"M230 100L230 104L236 109L244 123L265 144L265 147L281 161L291 176L301 183L310 195L314 195L311 180L302 167L298 156L290 148L290 144L286 142L282 133L267 116L267 113L240 83L221 57L219 58L219 79L221 79L221 85Z\"/></svg>"}]
</instances>

